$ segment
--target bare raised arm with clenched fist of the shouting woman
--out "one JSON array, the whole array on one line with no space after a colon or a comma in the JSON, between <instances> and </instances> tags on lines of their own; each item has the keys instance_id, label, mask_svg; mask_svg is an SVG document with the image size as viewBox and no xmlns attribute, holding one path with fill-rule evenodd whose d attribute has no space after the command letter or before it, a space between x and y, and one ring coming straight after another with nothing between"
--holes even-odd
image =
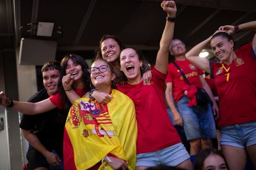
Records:
<instances>
[{"instance_id":1,"label":"bare raised arm with clenched fist of the shouting woman","mask_svg":"<svg viewBox=\"0 0 256 170\"><path fill-rule=\"evenodd\" d=\"M174 1L163 1L161 3L161 7L167 13L169 18L176 17L176 4ZM156 70L160 71L161 73L166 74L168 69L168 48L171 44L171 40L173 39L173 32L174 32L174 22L166 20L166 24L164 27L164 31L160 40L160 49L156 56Z\"/></svg>"}]
</instances>

